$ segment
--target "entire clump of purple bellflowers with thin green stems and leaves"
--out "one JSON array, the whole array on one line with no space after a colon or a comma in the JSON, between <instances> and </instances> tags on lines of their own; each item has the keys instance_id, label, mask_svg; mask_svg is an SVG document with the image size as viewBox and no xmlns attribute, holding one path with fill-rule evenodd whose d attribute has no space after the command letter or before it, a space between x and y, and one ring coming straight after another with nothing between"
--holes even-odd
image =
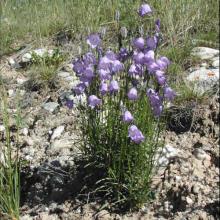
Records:
<instances>
[{"instance_id":1,"label":"entire clump of purple bellflowers with thin green stems and leaves","mask_svg":"<svg viewBox=\"0 0 220 220\"><path fill-rule=\"evenodd\" d=\"M144 4L138 13L150 16L152 9ZM152 35L137 36L118 52L104 51L99 34L91 34L87 44L89 51L73 62L80 81L73 93L87 97L87 106L79 107L88 166L101 172L95 192L121 207L136 207L150 192L164 103L175 97L166 77L170 61L157 55L160 20Z\"/></svg>"}]
</instances>

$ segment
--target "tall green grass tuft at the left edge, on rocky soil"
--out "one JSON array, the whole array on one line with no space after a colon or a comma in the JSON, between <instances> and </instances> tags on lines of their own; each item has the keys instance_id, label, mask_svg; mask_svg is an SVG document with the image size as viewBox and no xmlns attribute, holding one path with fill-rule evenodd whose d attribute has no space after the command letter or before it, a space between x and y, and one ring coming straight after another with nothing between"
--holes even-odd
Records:
<instances>
[{"instance_id":1,"label":"tall green grass tuft at the left edge, on rocky soil","mask_svg":"<svg viewBox=\"0 0 220 220\"><path fill-rule=\"evenodd\" d=\"M14 149L11 145L10 117L7 110L6 97L4 95L0 97L0 101L0 112L3 115L3 125L5 126L5 143L3 147L0 148L0 214L8 215L9 219L19 219L20 159L17 141L20 116L19 113L17 113L17 140Z\"/></svg>"}]
</instances>

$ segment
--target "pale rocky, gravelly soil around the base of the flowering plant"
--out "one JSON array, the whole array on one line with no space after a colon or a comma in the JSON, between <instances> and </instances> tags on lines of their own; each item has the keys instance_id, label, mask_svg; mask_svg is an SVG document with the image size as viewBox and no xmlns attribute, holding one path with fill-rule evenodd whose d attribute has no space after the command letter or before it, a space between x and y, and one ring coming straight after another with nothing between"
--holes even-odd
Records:
<instances>
[{"instance_id":1,"label":"pale rocky, gravelly soil around the base of the flowering plant","mask_svg":"<svg viewBox=\"0 0 220 220\"><path fill-rule=\"evenodd\" d=\"M137 212L110 214L106 210L97 212L98 204L89 197L87 204L78 199L83 187L75 163L81 156L80 131L76 110L64 105L75 82L71 63L62 65L51 87L41 88L31 84L28 70L16 69L10 58L12 56L1 59L0 69L11 115L16 112L16 100L20 100L19 143L21 157L27 164L21 175L22 220L219 218L219 95L216 88L202 103L194 101L171 107L171 118L163 134L165 148L158 155L159 169L152 180L155 199ZM14 60L19 63L19 59ZM216 69L219 71L218 66ZM3 140L4 127L0 126ZM15 135L13 119L10 129Z\"/></svg>"}]
</instances>

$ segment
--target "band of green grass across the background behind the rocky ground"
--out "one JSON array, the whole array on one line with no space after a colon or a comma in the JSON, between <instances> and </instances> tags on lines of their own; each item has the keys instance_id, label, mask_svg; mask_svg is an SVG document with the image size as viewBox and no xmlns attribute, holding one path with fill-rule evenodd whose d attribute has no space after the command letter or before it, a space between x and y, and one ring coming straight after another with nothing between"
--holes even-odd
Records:
<instances>
[{"instance_id":1,"label":"band of green grass across the background behind the rocky ground","mask_svg":"<svg viewBox=\"0 0 220 220\"><path fill-rule=\"evenodd\" d=\"M133 0L41 0L0 2L0 55L10 52L21 39L37 40L63 29L71 29L73 37L97 32L111 25L114 35L116 10L121 12L121 24L128 30L138 30L133 18L142 1ZM157 16L163 21L164 39L175 46L185 40L205 38L218 42L219 2L216 0L152 0ZM82 16L83 15L83 16ZM129 16L128 16L129 15ZM27 34L28 33L28 34ZM204 34L202 34L204 33ZM213 34L214 33L214 34ZM204 37L205 35L205 37ZM210 37L213 36L213 37Z\"/></svg>"}]
</instances>

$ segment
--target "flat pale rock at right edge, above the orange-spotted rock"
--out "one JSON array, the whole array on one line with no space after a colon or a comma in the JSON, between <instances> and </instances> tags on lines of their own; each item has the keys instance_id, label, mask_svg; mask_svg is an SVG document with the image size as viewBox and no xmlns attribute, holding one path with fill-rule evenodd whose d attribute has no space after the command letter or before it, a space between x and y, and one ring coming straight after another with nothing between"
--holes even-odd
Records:
<instances>
[{"instance_id":1,"label":"flat pale rock at right edge, above the orange-spotted rock","mask_svg":"<svg viewBox=\"0 0 220 220\"><path fill-rule=\"evenodd\" d=\"M195 47L192 50L192 55L197 56L202 60L210 60L213 57L219 55L219 50L208 48L208 47Z\"/></svg>"}]
</instances>

